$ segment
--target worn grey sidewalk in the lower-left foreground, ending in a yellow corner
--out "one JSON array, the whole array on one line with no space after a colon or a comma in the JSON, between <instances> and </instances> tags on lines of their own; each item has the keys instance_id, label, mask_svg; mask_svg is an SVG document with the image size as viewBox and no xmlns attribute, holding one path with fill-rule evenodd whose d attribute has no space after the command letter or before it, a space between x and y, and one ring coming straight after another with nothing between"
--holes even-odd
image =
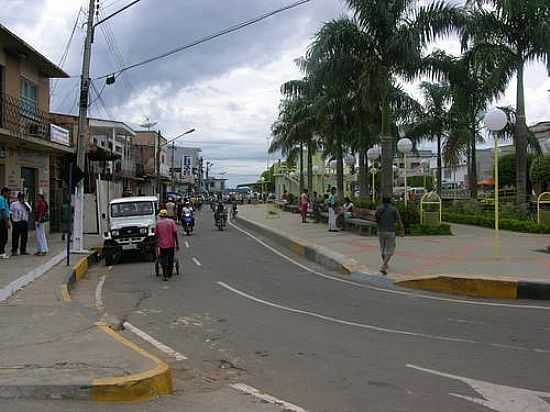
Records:
<instances>
[{"instance_id":1,"label":"worn grey sidewalk in the lower-left foreground, ending in a yellow corner","mask_svg":"<svg viewBox=\"0 0 550 412\"><path fill-rule=\"evenodd\" d=\"M0 398L113 400L121 389L131 395L126 400L157 395L135 377L162 363L96 324L95 312L61 302L56 291L66 274L61 263L0 304Z\"/></svg>"}]
</instances>

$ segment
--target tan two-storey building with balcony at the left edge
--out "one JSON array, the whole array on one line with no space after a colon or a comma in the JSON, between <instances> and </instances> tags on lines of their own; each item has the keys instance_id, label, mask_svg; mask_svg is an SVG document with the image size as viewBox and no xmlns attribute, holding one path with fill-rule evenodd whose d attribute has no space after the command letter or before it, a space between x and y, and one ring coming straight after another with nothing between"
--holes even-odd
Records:
<instances>
[{"instance_id":1,"label":"tan two-storey building with balcony at the left edge","mask_svg":"<svg viewBox=\"0 0 550 412\"><path fill-rule=\"evenodd\" d=\"M74 154L69 132L52 123L50 79L68 75L0 25L0 186L25 192L31 205L41 193L50 204L48 230L60 229L68 195L63 176Z\"/></svg>"}]
</instances>

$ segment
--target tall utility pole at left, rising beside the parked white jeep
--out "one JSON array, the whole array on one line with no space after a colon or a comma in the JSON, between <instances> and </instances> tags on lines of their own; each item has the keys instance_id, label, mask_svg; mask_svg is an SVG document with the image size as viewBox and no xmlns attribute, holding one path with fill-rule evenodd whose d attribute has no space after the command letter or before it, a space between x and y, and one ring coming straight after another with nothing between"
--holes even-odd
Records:
<instances>
[{"instance_id":1,"label":"tall utility pole at left, rising beside the parked white jeep","mask_svg":"<svg viewBox=\"0 0 550 412\"><path fill-rule=\"evenodd\" d=\"M78 140L76 146L76 165L82 171L86 167L86 147L88 137L88 100L90 91L90 59L94 37L94 13L96 0L90 0L84 56L82 59L82 77L80 79L80 104L78 113ZM75 190L73 250L84 251L84 180L80 180Z\"/></svg>"}]
</instances>

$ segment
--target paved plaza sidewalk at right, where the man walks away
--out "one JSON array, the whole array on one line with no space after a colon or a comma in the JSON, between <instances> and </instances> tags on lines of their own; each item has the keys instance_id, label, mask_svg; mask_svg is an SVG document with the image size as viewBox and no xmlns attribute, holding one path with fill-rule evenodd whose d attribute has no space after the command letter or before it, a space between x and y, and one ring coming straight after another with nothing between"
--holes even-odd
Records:
<instances>
[{"instance_id":1,"label":"paved plaza sidewalk at right, where the man walks away","mask_svg":"<svg viewBox=\"0 0 550 412\"><path fill-rule=\"evenodd\" d=\"M378 239L350 232L329 233L325 224L302 224L299 215L266 214L264 206L243 206L240 216L286 233L306 244L318 245L379 274ZM550 255L542 252L550 236L502 231L500 258L495 258L494 231L466 225L452 225L454 236L400 237L389 277L394 281L448 276L550 283Z\"/></svg>"}]
</instances>

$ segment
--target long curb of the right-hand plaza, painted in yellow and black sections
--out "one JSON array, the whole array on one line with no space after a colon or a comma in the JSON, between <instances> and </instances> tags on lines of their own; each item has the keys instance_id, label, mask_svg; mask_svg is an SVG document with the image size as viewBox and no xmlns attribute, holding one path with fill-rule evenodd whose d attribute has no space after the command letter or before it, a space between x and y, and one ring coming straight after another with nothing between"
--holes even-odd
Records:
<instances>
[{"instance_id":1,"label":"long curb of the right-hand plaza, painted in yellow and black sections","mask_svg":"<svg viewBox=\"0 0 550 412\"><path fill-rule=\"evenodd\" d=\"M399 286L473 298L550 300L550 283L524 280L498 280L456 276L432 276L419 279L392 281L383 276L369 274L365 266L354 259L335 253L322 246L304 243L266 225L238 215L241 226L259 233L298 256L303 256L329 270L350 275L352 279L379 287Z\"/></svg>"}]
</instances>

